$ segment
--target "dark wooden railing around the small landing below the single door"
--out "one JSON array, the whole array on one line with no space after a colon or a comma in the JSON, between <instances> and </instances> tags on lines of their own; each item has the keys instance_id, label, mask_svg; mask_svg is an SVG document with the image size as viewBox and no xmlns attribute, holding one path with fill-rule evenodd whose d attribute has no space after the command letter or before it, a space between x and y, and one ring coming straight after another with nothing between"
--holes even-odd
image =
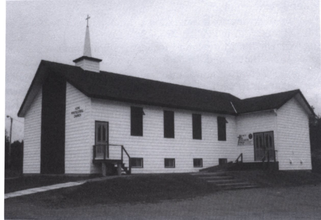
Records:
<instances>
[{"instance_id":1,"label":"dark wooden railing around the small landing below the single door","mask_svg":"<svg viewBox=\"0 0 321 220\"><path fill-rule=\"evenodd\" d=\"M110 149L110 146L114 147L121 147L120 155L117 153L117 149L112 148ZM119 151L118 151L119 152ZM124 162L124 152L126 153L126 156L128 157L128 169L129 173L131 173L131 157L129 156L128 152L124 148L124 145L117 145L117 144L97 144L93 145L93 161L95 160L106 160L106 161L117 161L121 160L121 163ZM120 159L119 159L120 156ZM124 168L124 167L123 167Z\"/></svg>"}]
</instances>

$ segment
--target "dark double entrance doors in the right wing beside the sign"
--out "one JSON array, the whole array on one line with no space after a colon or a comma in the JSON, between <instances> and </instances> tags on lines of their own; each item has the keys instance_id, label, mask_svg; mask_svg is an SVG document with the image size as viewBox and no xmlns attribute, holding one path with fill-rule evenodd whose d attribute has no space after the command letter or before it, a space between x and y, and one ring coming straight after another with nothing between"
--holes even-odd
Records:
<instances>
[{"instance_id":1,"label":"dark double entrance doors in the right wing beside the sign","mask_svg":"<svg viewBox=\"0 0 321 220\"><path fill-rule=\"evenodd\" d=\"M274 160L273 131L254 133L254 159L255 161Z\"/></svg>"}]
</instances>

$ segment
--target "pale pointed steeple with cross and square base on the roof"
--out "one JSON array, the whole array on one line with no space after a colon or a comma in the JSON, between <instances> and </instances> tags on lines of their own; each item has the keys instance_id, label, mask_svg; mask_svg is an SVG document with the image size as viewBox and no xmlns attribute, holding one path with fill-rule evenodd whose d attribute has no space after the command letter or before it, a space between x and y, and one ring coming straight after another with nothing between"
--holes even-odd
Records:
<instances>
[{"instance_id":1,"label":"pale pointed steeple with cross and square base on the roof","mask_svg":"<svg viewBox=\"0 0 321 220\"><path fill-rule=\"evenodd\" d=\"M89 70L93 72L99 72L99 63L102 61L101 59L97 59L91 57L91 47L90 47L90 36L89 36L89 21L90 17L87 15L87 27L85 34L85 43L83 47L83 56L73 60L76 66L81 67L84 70Z\"/></svg>"}]
</instances>

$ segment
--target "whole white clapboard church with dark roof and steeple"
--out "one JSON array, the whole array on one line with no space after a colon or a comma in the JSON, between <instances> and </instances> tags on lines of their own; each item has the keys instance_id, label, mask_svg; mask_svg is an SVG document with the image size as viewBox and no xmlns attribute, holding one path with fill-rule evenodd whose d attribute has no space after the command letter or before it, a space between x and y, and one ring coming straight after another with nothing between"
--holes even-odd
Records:
<instances>
[{"instance_id":1,"label":"whole white clapboard church with dark roof and steeple","mask_svg":"<svg viewBox=\"0 0 321 220\"><path fill-rule=\"evenodd\" d=\"M42 60L18 112L23 173L182 173L235 161L311 170L299 89L239 99L100 70L87 23L75 65Z\"/></svg>"}]
</instances>

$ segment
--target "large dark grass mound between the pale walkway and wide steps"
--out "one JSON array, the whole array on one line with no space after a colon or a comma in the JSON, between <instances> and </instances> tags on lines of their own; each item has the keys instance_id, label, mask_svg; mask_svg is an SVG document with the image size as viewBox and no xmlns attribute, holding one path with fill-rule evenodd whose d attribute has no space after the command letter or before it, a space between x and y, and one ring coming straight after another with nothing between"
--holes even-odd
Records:
<instances>
[{"instance_id":1,"label":"large dark grass mound between the pale walkway and wide steps","mask_svg":"<svg viewBox=\"0 0 321 220\"><path fill-rule=\"evenodd\" d=\"M52 208L93 204L154 203L190 199L216 192L217 188L187 173L131 175L31 194L17 199ZM10 199L9 199L10 200Z\"/></svg>"}]
</instances>

